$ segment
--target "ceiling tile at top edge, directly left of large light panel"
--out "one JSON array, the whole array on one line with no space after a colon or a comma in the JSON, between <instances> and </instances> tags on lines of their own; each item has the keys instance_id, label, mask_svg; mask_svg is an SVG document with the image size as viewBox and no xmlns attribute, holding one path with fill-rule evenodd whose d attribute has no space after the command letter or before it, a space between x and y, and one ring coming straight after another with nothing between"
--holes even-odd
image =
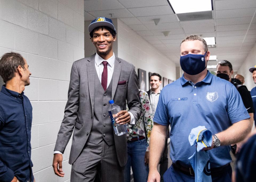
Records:
<instances>
[{"instance_id":1,"label":"ceiling tile at top edge, directly left of large light panel","mask_svg":"<svg viewBox=\"0 0 256 182\"><path fill-rule=\"evenodd\" d=\"M166 0L119 0L126 8L168 5Z\"/></svg>"}]
</instances>

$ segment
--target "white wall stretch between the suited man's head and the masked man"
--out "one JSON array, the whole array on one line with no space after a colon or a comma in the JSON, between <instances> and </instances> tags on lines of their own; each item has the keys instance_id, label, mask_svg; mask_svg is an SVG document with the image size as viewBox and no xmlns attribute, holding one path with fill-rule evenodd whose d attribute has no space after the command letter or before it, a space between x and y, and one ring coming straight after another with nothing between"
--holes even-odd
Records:
<instances>
[{"instance_id":1,"label":"white wall stretch between the suited man's head and the masked man","mask_svg":"<svg viewBox=\"0 0 256 182\"><path fill-rule=\"evenodd\" d=\"M174 62L119 19L117 19L117 27L118 57L132 63L137 73L138 68L147 71L147 90L149 89L148 72L156 72L162 77L176 80Z\"/></svg>"}]
</instances>

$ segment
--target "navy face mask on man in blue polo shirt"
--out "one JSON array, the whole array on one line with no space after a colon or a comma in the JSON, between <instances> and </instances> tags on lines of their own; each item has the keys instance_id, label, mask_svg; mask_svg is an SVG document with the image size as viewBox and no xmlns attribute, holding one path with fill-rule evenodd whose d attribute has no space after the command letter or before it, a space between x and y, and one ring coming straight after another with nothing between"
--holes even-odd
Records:
<instances>
[{"instance_id":1,"label":"navy face mask on man in blue polo shirt","mask_svg":"<svg viewBox=\"0 0 256 182\"><path fill-rule=\"evenodd\" d=\"M205 70L205 52L202 54L187 54L181 56L179 62L181 64L181 69L189 75L197 75Z\"/></svg>"}]
</instances>

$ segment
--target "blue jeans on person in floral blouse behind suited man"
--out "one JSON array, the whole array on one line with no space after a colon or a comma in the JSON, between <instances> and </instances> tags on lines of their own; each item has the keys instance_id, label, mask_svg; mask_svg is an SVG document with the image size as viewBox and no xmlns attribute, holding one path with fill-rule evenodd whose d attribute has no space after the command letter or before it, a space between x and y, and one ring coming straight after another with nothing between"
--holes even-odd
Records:
<instances>
[{"instance_id":1,"label":"blue jeans on person in floral blouse behind suited man","mask_svg":"<svg viewBox=\"0 0 256 182\"><path fill-rule=\"evenodd\" d=\"M125 166L125 182L131 180L131 168L134 182L147 182L149 166L145 165L144 157L147 149L146 139L135 142L127 142L128 160Z\"/></svg>"}]
</instances>

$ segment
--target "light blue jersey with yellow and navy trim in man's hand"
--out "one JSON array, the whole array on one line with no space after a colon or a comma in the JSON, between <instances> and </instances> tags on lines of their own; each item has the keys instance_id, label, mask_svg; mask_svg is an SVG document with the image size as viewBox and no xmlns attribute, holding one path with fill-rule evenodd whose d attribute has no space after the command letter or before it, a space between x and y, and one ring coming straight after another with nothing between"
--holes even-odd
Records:
<instances>
[{"instance_id":1,"label":"light blue jersey with yellow and navy trim in man's hand","mask_svg":"<svg viewBox=\"0 0 256 182\"><path fill-rule=\"evenodd\" d=\"M189 157L190 164L195 173L195 182L211 181L210 156L209 152L202 150L205 147L211 147L212 134L205 126L198 126L191 129L189 134L189 143L191 146L197 144L194 154Z\"/></svg>"}]
</instances>

